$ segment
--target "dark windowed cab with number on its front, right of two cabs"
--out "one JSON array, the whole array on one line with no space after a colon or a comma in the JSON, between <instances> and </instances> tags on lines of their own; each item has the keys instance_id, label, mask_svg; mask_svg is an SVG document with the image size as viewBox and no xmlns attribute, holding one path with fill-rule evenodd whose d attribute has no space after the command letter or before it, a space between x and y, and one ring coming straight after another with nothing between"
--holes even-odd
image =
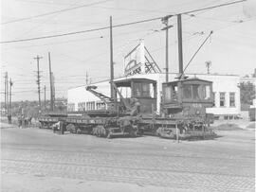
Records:
<instances>
[{"instance_id":1,"label":"dark windowed cab with number on its front, right of two cabs","mask_svg":"<svg viewBox=\"0 0 256 192\"><path fill-rule=\"evenodd\" d=\"M203 79L181 79L163 83L162 107L178 110L188 105L206 108L213 105L212 82Z\"/></svg>"}]
</instances>

